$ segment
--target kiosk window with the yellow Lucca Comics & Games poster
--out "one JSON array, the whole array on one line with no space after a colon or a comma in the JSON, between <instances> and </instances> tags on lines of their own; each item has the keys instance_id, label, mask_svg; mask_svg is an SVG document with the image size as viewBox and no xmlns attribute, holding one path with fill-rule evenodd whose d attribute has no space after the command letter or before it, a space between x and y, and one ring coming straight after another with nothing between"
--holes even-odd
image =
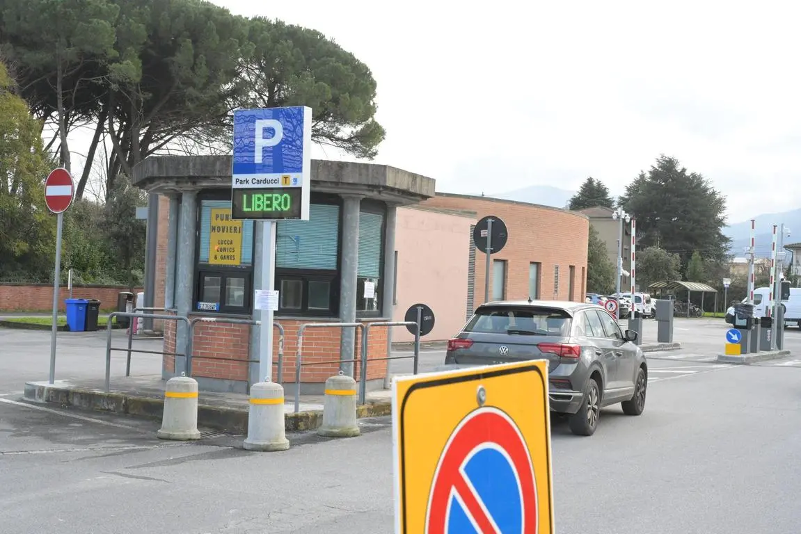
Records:
<instances>
[{"instance_id":1,"label":"kiosk window with the yellow Lucca Comics & Games poster","mask_svg":"<svg viewBox=\"0 0 801 534\"><path fill-rule=\"evenodd\" d=\"M231 219L225 191L199 195L193 311L252 311L253 221ZM222 197L222 198L221 198Z\"/></svg>"}]
</instances>

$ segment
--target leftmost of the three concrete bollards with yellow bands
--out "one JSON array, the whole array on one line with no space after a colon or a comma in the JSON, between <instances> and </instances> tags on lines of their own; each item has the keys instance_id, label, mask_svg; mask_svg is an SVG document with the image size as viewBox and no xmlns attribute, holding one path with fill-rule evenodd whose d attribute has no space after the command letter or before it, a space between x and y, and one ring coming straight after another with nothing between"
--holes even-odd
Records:
<instances>
[{"instance_id":1,"label":"leftmost of the three concrete bollards with yellow bands","mask_svg":"<svg viewBox=\"0 0 801 534\"><path fill-rule=\"evenodd\" d=\"M155 435L161 440L200 439L198 383L195 379L181 375L167 380L161 429Z\"/></svg>"}]
</instances>

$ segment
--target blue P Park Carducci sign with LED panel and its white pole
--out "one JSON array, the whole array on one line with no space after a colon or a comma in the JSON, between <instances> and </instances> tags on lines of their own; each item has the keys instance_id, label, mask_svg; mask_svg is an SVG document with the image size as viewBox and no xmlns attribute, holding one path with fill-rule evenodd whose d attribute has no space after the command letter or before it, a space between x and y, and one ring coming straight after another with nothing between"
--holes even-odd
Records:
<instances>
[{"instance_id":1,"label":"blue P Park Carducci sign with LED panel and its white pole","mask_svg":"<svg viewBox=\"0 0 801 534\"><path fill-rule=\"evenodd\" d=\"M261 289L259 375L272 381L272 317L278 311L276 221L309 219L312 190L312 108L274 107L234 111L231 219L260 221Z\"/></svg>"}]
</instances>

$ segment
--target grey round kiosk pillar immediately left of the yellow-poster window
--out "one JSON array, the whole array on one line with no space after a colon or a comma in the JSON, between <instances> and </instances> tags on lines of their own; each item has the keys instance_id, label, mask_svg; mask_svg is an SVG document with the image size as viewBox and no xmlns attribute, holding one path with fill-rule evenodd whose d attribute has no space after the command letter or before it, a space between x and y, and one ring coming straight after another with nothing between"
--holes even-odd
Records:
<instances>
[{"instance_id":1,"label":"grey round kiosk pillar immediately left of the yellow-poster window","mask_svg":"<svg viewBox=\"0 0 801 534\"><path fill-rule=\"evenodd\" d=\"M181 215L178 223L178 265L175 268L175 309L178 315L189 315L192 309L192 289L195 286L195 232L198 219L197 191L181 194ZM187 347L188 328L179 321L175 335L175 352ZM186 359L175 359L175 372L180 375L187 370Z\"/></svg>"}]
</instances>

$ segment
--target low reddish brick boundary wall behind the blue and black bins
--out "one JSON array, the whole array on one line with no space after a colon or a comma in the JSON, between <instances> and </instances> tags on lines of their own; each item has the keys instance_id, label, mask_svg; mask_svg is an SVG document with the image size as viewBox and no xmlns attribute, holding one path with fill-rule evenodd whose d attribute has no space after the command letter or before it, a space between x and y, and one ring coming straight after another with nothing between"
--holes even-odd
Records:
<instances>
[{"instance_id":1,"label":"low reddish brick boundary wall behind the blue and black bins","mask_svg":"<svg viewBox=\"0 0 801 534\"><path fill-rule=\"evenodd\" d=\"M73 286L74 299L98 299L103 310L116 309L117 294L128 291L124 286ZM143 291L136 287L134 295ZM64 300L70 298L66 287L59 287L58 309L64 311ZM53 284L0 283L0 311L51 311L53 309Z\"/></svg>"}]
</instances>

